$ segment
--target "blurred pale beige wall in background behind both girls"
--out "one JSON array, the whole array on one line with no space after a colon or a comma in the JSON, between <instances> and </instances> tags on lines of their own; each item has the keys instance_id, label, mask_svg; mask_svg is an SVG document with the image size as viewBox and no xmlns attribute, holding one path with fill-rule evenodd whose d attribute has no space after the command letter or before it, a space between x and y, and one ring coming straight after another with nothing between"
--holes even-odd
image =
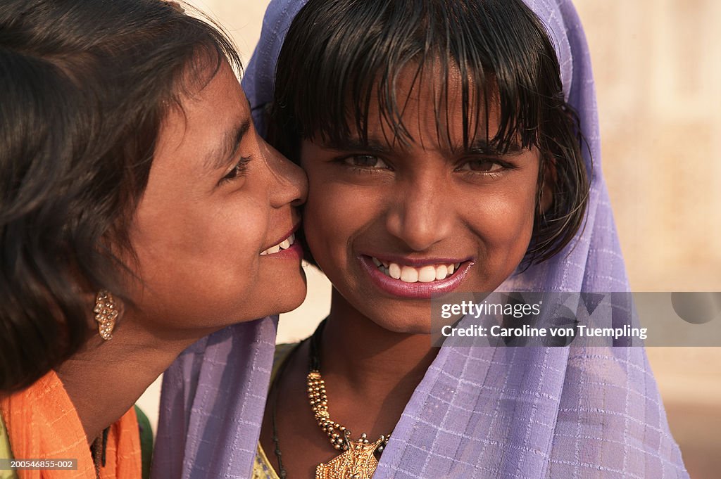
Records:
<instances>
[{"instance_id":1,"label":"blurred pale beige wall in background behind both girls","mask_svg":"<svg viewBox=\"0 0 721 479\"><path fill-rule=\"evenodd\" d=\"M191 3L226 27L247 63L268 1ZM721 1L575 4L632 289L721 291ZM329 309L329 283L306 271L309 297L281 317L279 341L308 336ZM691 478L720 477L721 348L649 348L648 356ZM153 418L158 389L141 398Z\"/></svg>"}]
</instances>

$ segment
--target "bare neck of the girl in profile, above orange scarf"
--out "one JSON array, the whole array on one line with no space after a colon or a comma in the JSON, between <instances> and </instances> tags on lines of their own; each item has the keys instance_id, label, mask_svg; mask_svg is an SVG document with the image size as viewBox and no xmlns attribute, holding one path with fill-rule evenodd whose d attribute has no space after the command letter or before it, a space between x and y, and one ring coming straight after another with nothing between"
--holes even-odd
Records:
<instances>
[{"instance_id":1,"label":"bare neck of the girl in profile, above orange scarf","mask_svg":"<svg viewBox=\"0 0 721 479\"><path fill-rule=\"evenodd\" d=\"M123 416L178 354L210 332L173 335L132 319L125 315L109 341L92 334L84 348L56 370L89 443Z\"/></svg>"}]
</instances>

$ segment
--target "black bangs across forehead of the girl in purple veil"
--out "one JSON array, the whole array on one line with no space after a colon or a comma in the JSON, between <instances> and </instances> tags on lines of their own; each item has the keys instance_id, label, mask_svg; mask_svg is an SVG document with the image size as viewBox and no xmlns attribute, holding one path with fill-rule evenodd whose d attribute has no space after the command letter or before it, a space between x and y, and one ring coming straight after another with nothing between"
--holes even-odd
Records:
<instances>
[{"instance_id":1,"label":"black bangs across forehead of the girl in purple veil","mask_svg":"<svg viewBox=\"0 0 721 479\"><path fill-rule=\"evenodd\" d=\"M310 0L278 60L271 140L291 158L303 138L365 143L377 108L394 139L412 142L402 120L407 98L397 97L399 78L410 73L415 84L433 77L438 135L448 135L444 105L453 94L464 148L477 135L501 152L511 143L536 146L544 103L563 102L559 80L547 84L559 79L557 62L549 62L555 74L544 75L544 58L555 58L553 46L521 1ZM499 127L489 132L494 103ZM283 140L291 140L288 129L295 141Z\"/></svg>"}]
</instances>

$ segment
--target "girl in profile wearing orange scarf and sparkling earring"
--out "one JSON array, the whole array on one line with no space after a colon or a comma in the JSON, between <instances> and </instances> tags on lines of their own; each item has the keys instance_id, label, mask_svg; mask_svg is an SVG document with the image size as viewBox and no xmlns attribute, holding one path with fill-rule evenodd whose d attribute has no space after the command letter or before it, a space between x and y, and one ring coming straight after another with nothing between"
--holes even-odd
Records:
<instances>
[{"instance_id":1,"label":"girl in profile wearing orange scarf and sparkling earring","mask_svg":"<svg viewBox=\"0 0 721 479\"><path fill-rule=\"evenodd\" d=\"M140 478L138 396L197 339L303 300L306 179L240 68L177 2L3 2L0 458L20 477ZM262 325L240 329L252 362Z\"/></svg>"}]
</instances>

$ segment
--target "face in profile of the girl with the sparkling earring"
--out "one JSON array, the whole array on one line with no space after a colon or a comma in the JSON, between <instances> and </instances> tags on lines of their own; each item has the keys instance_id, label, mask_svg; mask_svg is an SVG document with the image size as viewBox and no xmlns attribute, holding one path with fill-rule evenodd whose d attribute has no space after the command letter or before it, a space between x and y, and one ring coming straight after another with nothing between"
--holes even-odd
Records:
<instances>
[{"instance_id":1,"label":"face in profile of the girl with the sparkling earring","mask_svg":"<svg viewBox=\"0 0 721 479\"><path fill-rule=\"evenodd\" d=\"M227 64L181 104L163 122L131 227L138 313L159 326L218 328L296 308L306 284L289 243L303 171L257 135Z\"/></svg>"}]
</instances>

